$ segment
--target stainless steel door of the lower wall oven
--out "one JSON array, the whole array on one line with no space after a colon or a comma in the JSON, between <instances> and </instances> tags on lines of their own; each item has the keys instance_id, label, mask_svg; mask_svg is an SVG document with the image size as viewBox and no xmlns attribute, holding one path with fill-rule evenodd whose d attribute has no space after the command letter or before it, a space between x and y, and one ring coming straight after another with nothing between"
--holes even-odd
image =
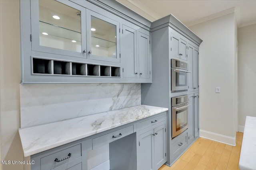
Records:
<instances>
[{"instance_id":1,"label":"stainless steel door of the lower wall oven","mask_svg":"<svg viewBox=\"0 0 256 170\"><path fill-rule=\"evenodd\" d=\"M188 129L188 106L190 105L172 107L172 138Z\"/></svg>"}]
</instances>

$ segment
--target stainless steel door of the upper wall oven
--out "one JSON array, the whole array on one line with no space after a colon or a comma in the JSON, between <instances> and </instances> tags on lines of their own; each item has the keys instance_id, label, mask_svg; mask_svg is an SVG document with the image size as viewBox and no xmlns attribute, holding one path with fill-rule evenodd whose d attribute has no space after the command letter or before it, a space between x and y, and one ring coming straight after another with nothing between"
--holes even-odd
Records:
<instances>
[{"instance_id":1,"label":"stainless steel door of the upper wall oven","mask_svg":"<svg viewBox=\"0 0 256 170\"><path fill-rule=\"evenodd\" d=\"M172 91L188 90L188 70L172 68Z\"/></svg>"}]
</instances>

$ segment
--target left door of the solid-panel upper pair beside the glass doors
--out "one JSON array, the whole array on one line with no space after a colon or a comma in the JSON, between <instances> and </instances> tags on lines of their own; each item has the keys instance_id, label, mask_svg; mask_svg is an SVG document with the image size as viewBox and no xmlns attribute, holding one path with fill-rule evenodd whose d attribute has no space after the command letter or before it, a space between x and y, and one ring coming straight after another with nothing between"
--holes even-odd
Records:
<instances>
[{"instance_id":1,"label":"left door of the solid-panel upper pair beside the glass doors","mask_svg":"<svg viewBox=\"0 0 256 170\"><path fill-rule=\"evenodd\" d=\"M126 25L122 27L122 62L124 73L123 76L127 78L136 78L137 72L137 41L136 30ZM137 73L137 74L135 74Z\"/></svg>"}]
</instances>

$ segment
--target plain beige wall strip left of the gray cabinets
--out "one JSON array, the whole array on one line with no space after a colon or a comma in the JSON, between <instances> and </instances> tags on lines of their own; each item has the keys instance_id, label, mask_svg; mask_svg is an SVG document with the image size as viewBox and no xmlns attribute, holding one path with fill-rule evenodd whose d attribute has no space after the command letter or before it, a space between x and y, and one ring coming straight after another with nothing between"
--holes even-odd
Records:
<instances>
[{"instance_id":1,"label":"plain beige wall strip left of the gray cabinets","mask_svg":"<svg viewBox=\"0 0 256 170\"><path fill-rule=\"evenodd\" d=\"M20 127L20 14L18 0L0 0L1 160L23 160ZM1 165L22 170L23 165Z\"/></svg>"}]
</instances>

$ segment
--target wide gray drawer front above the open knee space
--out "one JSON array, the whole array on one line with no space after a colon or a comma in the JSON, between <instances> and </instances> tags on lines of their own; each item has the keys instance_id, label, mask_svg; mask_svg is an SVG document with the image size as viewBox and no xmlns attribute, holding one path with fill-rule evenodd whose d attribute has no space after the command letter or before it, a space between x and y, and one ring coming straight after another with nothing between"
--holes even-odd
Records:
<instances>
[{"instance_id":1,"label":"wide gray drawer front above the open knee space","mask_svg":"<svg viewBox=\"0 0 256 170\"><path fill-rule=\"evenodd\" d=\"M92 139L92 149L96 149L98 147L101 147L110 142L116 141L117 139L130 135L132 133L133 133L133 125L122 128L122 129L118 129L114 132L108 133L106 135L102 135L100 137L96 137Z\"/></svg>"}]
</instances>

